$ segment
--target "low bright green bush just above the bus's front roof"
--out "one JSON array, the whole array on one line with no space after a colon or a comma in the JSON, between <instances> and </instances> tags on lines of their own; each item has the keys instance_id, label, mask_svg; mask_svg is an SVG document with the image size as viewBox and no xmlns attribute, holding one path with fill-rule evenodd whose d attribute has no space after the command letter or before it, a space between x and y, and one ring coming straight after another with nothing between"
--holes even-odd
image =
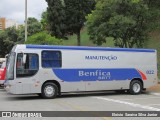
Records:
<instances>
[{"instance_id":1,"label":"low bright green bush just above the bus's front roof","mask_svg":"<svg viewBox=\"0 0 160 120\"><path fill-rule=\"evenodd\" d=\"M46 31L43 31L28 37L25 44L61 45L62 40L52 37Z\"/></svg>"}]
</instances>

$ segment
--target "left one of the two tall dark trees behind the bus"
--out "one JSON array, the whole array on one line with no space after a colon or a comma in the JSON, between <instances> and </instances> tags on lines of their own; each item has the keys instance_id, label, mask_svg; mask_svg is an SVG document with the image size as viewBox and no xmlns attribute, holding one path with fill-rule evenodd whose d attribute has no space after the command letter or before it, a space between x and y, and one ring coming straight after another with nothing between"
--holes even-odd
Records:
<instances>
[{"instance_id":1,"label":"left one of the two tall dark trees behind the bus","mask_svg":"<svg viewBox=\"0 0 160 120\"><path fill-rule=\"evenodd\" d=\"M65 38L65 11L61 0L46 0L49 32L56 38Z\"/></svg>"}]
</instances>

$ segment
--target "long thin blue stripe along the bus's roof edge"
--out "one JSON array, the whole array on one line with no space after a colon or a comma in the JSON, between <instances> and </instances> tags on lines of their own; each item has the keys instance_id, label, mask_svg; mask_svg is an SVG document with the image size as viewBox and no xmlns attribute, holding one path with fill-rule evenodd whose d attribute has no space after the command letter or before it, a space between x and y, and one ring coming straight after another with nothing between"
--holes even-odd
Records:
<instances>
[{"instance_id":1,"label":"long thin blue stripe along the bus's roof edge","mask_svg":"<svg viewBox=\"0 0 160 120\"><path fill-rule=\"evenodd\" d=\"M26 45L32 49L54 49L54 50L94 50L94 51L124 51L124 52L156 52L154 49L135 49L135 48L105 48L105 47L86 47L86 46L52 46L52 45Z\"/></svg>"}]
</instances>

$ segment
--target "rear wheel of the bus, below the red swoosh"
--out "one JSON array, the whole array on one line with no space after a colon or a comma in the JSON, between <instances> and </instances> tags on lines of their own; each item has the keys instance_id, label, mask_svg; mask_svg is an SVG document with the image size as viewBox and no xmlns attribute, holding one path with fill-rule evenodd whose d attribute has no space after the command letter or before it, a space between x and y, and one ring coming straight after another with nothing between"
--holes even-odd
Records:
<instances>
[{"instance_id":1,"label":"rear wheel of the bus, below the red swoosh","mask_svg":"<svg viewBox=\"0 0 160 120\"><path fill-rule=\"evenodd\" d=\"M142 92L142 83L138 80L132 81L130 84L129 92L132 95L140 94Z\"/></svg>"}]
</instances>

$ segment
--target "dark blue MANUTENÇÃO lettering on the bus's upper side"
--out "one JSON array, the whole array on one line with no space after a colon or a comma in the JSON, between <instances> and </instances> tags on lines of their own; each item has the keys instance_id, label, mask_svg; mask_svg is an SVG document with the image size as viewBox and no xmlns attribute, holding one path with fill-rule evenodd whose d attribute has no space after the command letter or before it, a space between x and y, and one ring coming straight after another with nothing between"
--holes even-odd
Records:
<instances>
[{"instance_id":1,"label":"dark blue MANUTEN\u00c7\u00c3O lettering on the bus's upper side","mask_svg":"<svg viewBox=\"0 0 160 120\"><path fill-rule=\"evenodd\" d=\"M85 56L86 60L117 60L117 56Z\"/></svg>"}]
</instances>

